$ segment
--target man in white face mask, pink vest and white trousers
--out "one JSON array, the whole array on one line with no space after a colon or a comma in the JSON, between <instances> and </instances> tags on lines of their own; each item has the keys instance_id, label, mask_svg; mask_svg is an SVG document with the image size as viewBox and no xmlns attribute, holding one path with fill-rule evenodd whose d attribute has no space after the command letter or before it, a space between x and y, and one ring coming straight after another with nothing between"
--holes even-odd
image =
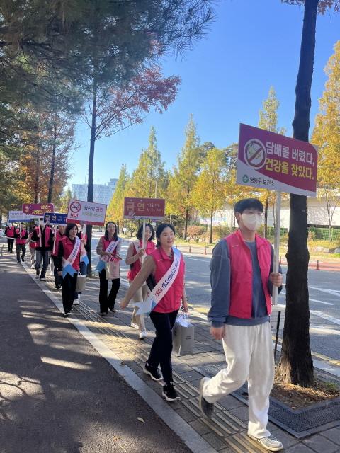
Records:
<instances>
[{"instance_id":1,"label":"man in white face mask, pink vest and white trousers","mask_svg":"<svg viewBox=\"0 0 340 453\"><path fill-rule=\"evenodd\" d=\"M223 341L227 368L200 382L199 403L211 418L214 403L248 381L248 435L271 452L282 443L267 430L274 357L269 315L273 285L282 286L281 270L273 273L271 243L256 234L263 205L247 198L234 206L239 229L212 252L210 333Z\"/></svg>"}]
</instances>

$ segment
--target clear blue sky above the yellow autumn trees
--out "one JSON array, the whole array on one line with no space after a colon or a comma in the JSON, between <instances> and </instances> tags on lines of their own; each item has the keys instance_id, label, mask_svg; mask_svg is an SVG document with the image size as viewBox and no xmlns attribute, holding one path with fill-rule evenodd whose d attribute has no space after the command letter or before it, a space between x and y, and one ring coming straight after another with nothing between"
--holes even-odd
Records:
<instances>
[{"instance_id":1,"label":"clear blue sky above the yellow autumn trees","mask_svg":"<svg viewBox=\"0 0 340 453\"><path fill-rule=\"evenodd\" d=\"M280 0L220 0L216 15L206 37L184 59L168 55L164 60L164 74L182 79L176 101L168 110L163 115L150 113L142 125L96 142L95 183L118 178L122 164L133 171L140 151L147 147L152 125L166 168L172 168L191 113L201 143L222 148L237 142L240 122L257 125L271 85L280 101L278 126L292 134L303 8ZM318 16L310 133L326 81L324 66L339 39L340 13ZM74 176L69 185L84 183L87 176L86 125L79 125L77 140L81 147L74 151Z\"/></svg>"}]
</instances>

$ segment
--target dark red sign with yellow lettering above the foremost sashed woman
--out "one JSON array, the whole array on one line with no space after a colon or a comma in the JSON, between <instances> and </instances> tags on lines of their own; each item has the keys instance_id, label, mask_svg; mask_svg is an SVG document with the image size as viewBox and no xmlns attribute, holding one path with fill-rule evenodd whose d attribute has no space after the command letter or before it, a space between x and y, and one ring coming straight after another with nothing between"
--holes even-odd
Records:
<instances>
[{"instance_id":1,"label":"dark red sign with yellow lettering above the foremost sashed woman","mask_svg":"<svg viewBox=\"0 0 340 453\"><path fill-rule=\"evenodd\" d=\"M162 220L164 214L164 198L124 198L124 219Z\"/></svg>"}]
</instances>

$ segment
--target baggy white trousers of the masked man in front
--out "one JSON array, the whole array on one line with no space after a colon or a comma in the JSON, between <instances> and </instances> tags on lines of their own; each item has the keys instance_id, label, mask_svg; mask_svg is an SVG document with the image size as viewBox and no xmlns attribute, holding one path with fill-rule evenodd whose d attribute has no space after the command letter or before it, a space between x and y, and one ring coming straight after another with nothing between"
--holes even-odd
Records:
<instances>
[{"instance_id":1,"label":"baggy white trousers of the masked man in front","mask_svg":"<svg viewBox=\"0 0 340 453\"><path fill-rule=\"evenodd\" d=\"M225 324L223 348L227 368L205 383L205 400L215 403L248 381L248 433L258 438L271 435L266 429L269 394L274 379L271 323L266 322L259 326Z\"/></svg>"}]
</instances>

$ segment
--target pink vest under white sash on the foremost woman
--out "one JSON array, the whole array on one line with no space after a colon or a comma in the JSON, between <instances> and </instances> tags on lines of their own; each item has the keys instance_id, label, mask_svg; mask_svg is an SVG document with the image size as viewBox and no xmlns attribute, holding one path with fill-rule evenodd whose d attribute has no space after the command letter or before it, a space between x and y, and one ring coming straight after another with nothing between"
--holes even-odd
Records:
<instances>
[{"instance_id":1,"label":"pink vest under white sash on the foremost woman","mask_svg":"<svg viewBox=\"0 0 340 453\"><path fill-rule=\"evenodd\" d=\"M169 258L162 247L156 248L156 250L152 252L150 256L152 256L154 263L156 264L154 280L156 280L156 283L158 283L163 275L169 270L169 268L171 268L174 258ZM183 256L181 254L179 273L176 275L174 283L171 285L169 291L154 307L153 311L157 311L157 313L171 313L171 311L179 310L183 296L184 271L185 264Z\"/></svg>"}]
</instances>

